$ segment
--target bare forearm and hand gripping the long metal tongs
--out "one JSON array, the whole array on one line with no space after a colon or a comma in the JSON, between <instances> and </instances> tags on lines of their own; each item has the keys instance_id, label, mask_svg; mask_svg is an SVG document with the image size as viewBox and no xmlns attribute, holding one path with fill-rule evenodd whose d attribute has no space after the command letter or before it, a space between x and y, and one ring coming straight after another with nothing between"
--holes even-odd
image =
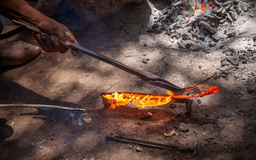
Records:
<instances>
[{"instance_id":1,"label":"bare forearm and hand gripping the long metal tongs","mask_svg":"<svg viewBox=\"0 0 256 160\"><path fill-rule=\"evenodd\" d=\"M71 46L71 42L79 45L65 25L45 16L23 0L2 0L0 14L42 30L45 34L33 33L33 36L46 52L65 53ZM49 37L48 35L52 36ZM72 54L78 55L79 52L72 51Z\"/></svg>"}]
</instances>

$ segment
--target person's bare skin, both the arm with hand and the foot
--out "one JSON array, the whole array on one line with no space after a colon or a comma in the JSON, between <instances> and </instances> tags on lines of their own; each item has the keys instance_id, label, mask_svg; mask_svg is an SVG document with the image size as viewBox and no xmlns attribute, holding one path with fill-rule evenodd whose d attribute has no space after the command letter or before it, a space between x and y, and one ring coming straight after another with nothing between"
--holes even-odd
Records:
<instances>
[{"instance_id":1,"label":"person's bare skin, both the arm with hand and the foot","mask_svg":"<svg viewBox=\"0 0 256 160\"><path fill-rule=\"evenodd\" d=\"M66 53L71 47L71 42L79 45L74 35L65 25L45 16L23 0L2 0L0 3L0 14L42 30L44 34L33 33L33 37L46 52ZM19 46L15 51L13 46L16 45ZM29 44L22 41L0 45L0 55L2 56L0 67L19 65L30 58L38 56L40 53L39 47L30 46L29 48ZM72 54L76 56L79 55L79 52L73 50Z\"/></svg>"}]
</instances>

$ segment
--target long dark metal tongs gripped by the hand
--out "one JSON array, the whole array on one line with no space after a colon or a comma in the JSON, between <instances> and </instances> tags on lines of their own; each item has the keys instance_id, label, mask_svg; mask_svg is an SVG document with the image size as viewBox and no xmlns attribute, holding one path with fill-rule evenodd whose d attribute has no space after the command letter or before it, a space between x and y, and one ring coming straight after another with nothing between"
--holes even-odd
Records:
<instances>
[{"instance_id":1,"label":"long dark metal tongs gripped by the hand","mask_svg":"<svg viewBox=\"0 0 256 160\"><path fill-rule=\"evenodd\" d=\"M31 27L29 25L18 22L16 20L12 20L12 22L16 23L16 24L18 24L18 25L20 25L20 26L22 26L26 29L34 31L37 34L43 34L43 32L38 28ZM120 63L120 62L118 62L114 59L106 57L105 55L90 51L86 48L83 48L83 47L77 45L77 44L71 43L71 48L75 49L77 51L80 51L84 54L87 54L89 56L92 56L94 58L97 58L101 61L104 61L104 62L108 63L109 65L115 66L115 67L117 67L117 68L119 68L123 71L129 72L129 73L137 76L138 78L142 79L143 81L145 81L149 84L171 90L171 91L175 92L176 95L184 94L184 92L186 91L186 88L181 88L181 87L179 87L179 86L177 86L177 85L175 85L175 84L173 84L173 83L171 83L171 82L169 82L169 81L167 81L163 78L159 78L158 76L156 76L152 73L149 73L149 72L146 72L146 71L140 71L140 70L131 68L129 66L124 65L123 63Z\"/></svg>"}]
</instances>

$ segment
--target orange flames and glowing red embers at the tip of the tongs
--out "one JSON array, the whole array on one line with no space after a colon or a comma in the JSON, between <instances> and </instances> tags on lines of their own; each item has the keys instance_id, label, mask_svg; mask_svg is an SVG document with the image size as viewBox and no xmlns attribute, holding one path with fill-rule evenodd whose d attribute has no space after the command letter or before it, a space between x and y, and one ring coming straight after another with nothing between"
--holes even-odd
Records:
<instances>
[{"instance_id":1,"label":"orange flames and glowing red embers at the tip of the tongs","mask_svg":"<svg viewBox=\"0 0 256 160\"><path fill-rule=\"evenodd\" d=\"M150 106L159 106L168 104L172 99L189 99L194 97L203 97L205 95L218 93L218 87L208 87L207 85L197 85L188 87L183 95L174 95L173 92L167 90L169 95L145 94L145 93L110 93L103 95L110 103L110 109L118 106L124 106L130 102L133 105L144 108Z\"/></svg>"}]
</instances>

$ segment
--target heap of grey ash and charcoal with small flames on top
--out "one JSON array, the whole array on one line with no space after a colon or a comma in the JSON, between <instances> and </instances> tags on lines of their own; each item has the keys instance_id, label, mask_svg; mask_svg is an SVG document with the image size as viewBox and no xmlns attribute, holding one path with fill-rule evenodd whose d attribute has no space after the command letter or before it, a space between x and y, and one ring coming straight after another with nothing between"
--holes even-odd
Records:
<instances>
[{"instance_id":1,"label":"heap of grey ash and charcoal with small flames on top","mask_svg":"<svg viewBox=\"0 0 256 160\"><path fill-rule=\"evenodd\" d=\"M177 42L179 48L190 48L189 41L214 47L218 41L239 34L233 22L241 12L249 12L253 7L253 3L240 0L176 0L155 17L152 30L148 32L166 31L172 42L182 38L186 42Z\"/></svg>"}]
</instances>

